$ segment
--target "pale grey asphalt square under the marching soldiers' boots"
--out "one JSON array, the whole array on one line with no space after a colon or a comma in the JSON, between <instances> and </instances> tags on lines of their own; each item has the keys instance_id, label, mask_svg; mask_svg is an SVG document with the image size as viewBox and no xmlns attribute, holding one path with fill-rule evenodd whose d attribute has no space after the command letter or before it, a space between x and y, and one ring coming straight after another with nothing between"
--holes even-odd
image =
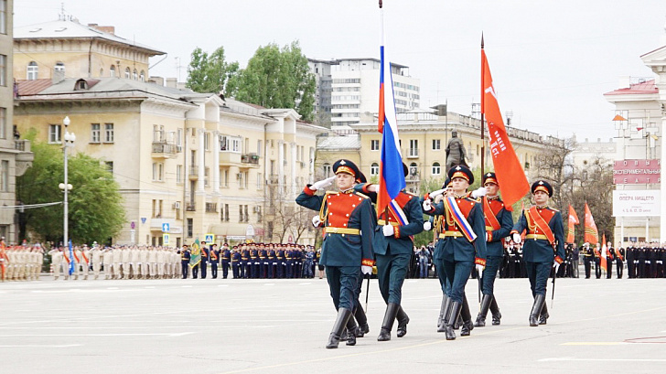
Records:
<instances>
[{"instance_id":1,"label":"pale grey asphalt square under the marching soldiers' boots","mask_svg":"<svg viewBox=\"0 0 666 374\"><path fill-rule=\"evenodd\" d=\"M325 349L335 311L325 279L0 283L0 373L661 373L666 279L558 279L551 318L530 327L527 279L498 279L500 326L446 341L436 279L406 280L405 337L371 332ZM477 281L467 283L472 315ZM365 284L361 303L365 302ZM490 317L488 318L488 323ZM397 324L396 324L397 325Z\"/></svg>"}]
</instances>

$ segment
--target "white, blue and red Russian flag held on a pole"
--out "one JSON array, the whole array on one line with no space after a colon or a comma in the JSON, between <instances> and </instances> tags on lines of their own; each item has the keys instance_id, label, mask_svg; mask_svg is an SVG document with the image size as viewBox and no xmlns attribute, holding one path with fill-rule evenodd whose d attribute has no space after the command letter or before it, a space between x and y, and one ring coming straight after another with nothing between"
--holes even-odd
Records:
<instances>
[{"instance_id":1,"label":"white, blue and red Russian flag held on a pole","mask_svg":"<svg viewBox=\"0 0 666 374\"><path fill-rule=\"evenodd\" d=\"M400 191L406 187L403 174L403 156L400 153L398 122L395 115L391 62L384 57L384 27L381 16L381 69L380 115L377 123L381 136L380 190L377 194L377 211L381 214Z\"/></svg>"}]
</instances>

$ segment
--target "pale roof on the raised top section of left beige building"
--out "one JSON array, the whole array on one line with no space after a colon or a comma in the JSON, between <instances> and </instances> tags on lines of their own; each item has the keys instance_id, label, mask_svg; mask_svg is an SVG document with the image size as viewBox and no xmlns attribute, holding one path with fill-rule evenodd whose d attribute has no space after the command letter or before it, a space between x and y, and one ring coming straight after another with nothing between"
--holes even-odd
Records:
<instances>
[{"instance_id":1,"label":"pale roof on the raised top section of left beige building","mask_svg":"<svg viewBox=\"0 0 666 374\"><path fill-rule=\"evenodd\" d=\"M54 39L54 38L100 38L107 41L124 44L129 47L141 48L151 56L165 55L166 52L156 48L118 37L114 34L100 31L94 27L81 25L74 19L59 19L41 24L14 28L14 39Z\"/></svg>"}]
</instances>

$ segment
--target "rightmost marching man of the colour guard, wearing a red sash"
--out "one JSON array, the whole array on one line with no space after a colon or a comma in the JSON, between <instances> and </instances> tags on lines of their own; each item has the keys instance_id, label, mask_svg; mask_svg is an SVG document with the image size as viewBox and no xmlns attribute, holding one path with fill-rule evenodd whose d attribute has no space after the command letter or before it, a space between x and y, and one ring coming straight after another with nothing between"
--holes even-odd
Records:
<instances>
[{"instance_id":1,"label":"rightmost marching man of the colour guard, wearing a red sash","mask_svg":"<svg viewBox=\"0 0 666 374\"><path fill-rule=\"evenodd\" d=\"M522 246L522 259L534 297L530 326L538 326L545 325L549 317L545 297L551 268L554 267L557 273L560 264L564 262L564 225L560 211L548 208L548 198L553 196L553 187L548 182L534 182L532 196L536 205L522 211L521 218L511 230L511 234L513 241L520 243L520 233L527 230Z\"/></svg>"}]
</instances>

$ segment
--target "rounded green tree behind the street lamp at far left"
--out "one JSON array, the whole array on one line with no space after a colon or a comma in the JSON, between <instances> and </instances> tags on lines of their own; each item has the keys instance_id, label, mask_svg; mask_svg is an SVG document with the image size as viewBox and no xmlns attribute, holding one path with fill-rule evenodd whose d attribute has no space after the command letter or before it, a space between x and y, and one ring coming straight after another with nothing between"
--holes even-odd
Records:
<instances>
[{"instance_id":1,"label":"rounded green tree behind the street lamp at far left","mask_svg":"<svg viewBox=\"0 0 666 374\"><path fill-rule=\"evenodd\" d=\"M26 174L16 178L17 198L25 205L62 201L62 148L33 143L35 160ZM121 230L125 218L119 186L100 160L89 155L69 157L70 226L73 242L106 242ZM26 209L27 228L40 240L62 240L63 206Z\"/></svg>"}]
</instances>

